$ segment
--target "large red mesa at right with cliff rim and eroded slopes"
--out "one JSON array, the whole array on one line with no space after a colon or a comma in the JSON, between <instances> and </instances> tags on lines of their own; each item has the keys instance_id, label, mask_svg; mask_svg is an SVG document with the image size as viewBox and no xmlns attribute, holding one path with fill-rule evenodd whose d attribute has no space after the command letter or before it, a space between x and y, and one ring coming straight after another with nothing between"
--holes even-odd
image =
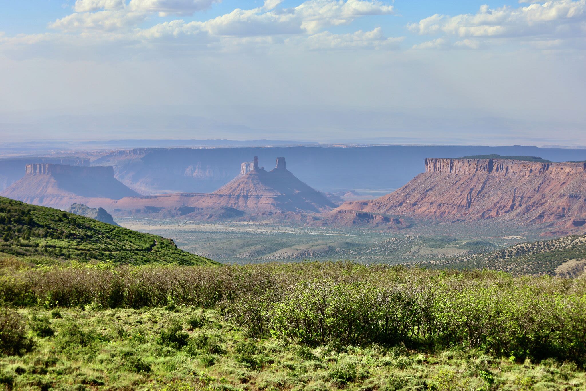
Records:
<instances>
[{"instance_id":1,"label":"large red mesa at right with cliff rim and eroded slopes","mask_svg":"<svg viewBox=\"0 0 586 391\"><path fill-rule=\"evenodd\" d=\"M425 172L396 192L340 210L438 222L505 219L522 225L580 226L586 216L586 164L508 159L426 159ZM571 227L570 227L571 228Z\"/></svg>"}]
</instances>

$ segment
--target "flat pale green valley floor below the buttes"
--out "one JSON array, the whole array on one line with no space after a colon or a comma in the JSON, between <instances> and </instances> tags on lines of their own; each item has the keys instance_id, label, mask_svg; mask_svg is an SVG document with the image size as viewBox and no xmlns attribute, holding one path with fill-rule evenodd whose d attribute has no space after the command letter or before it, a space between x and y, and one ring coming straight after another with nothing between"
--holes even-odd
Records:
<instances>
[{"instance_id":1,"label":"flat pale green valley floor below the buttes","mask_svg":"<svg viewBox=\"0 0 586 391\"><path fill-rule=\"evenodd\" d=\"M275 226L263 222L194 223L172 219L115 217L132 230L172 237L183 250L222 263L352 259L360 263L405 263L461 256L538 240L517 231L499 236L466 232L461 225L427 227L417 232ZM481 232L481 233L479 233Z\"/></svg>"}]
</instances>

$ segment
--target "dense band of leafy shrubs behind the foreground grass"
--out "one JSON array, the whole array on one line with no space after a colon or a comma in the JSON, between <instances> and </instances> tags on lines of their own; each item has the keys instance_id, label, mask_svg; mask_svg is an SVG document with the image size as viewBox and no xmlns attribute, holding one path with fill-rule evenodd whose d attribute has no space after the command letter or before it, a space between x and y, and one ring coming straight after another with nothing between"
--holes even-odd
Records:
<instances>
[{"instance_id":1,"label":"dense band of leafy shrubs behind the foreground grass","mask_svg":"<svg viewBox=\"0 0 586 391\"><path fill-rule=\"evenodd\" d=\"M4 273L0 298L13 305L194 305L219 309L250 336L275 335L310 346L464 346L519 359L586 363L586 276L512 277L350 262ZM189 327L202 322L190 319ZM188 343L183 334L180 327L165 330L160 342L181 348ZM240 354L252 366L263 360L258 352Z\"/></svg>"}]
</instances>

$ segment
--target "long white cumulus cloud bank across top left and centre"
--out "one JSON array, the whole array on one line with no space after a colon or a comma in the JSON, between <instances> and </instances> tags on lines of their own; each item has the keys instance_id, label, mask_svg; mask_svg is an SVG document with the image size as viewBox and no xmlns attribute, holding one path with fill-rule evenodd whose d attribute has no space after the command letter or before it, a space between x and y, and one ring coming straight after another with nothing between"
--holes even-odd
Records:
<instances>
[{"instance_id":1,"label":"long white cumulus cloud bank across top left and centre","mask_svg":"<svg viewBox=\"0 0 586 391\"><path fill-rule=\"evenodd\" d=\"M381 28L335 34L328 28L349 25L369 15L391 15L392 5L380 0L306 0L298 6L281 8L283 0L265 0L253 9L234 9L206 21L176 19L143 27L156 16L191 15L210 8L220 0L77 0L74 13L49 23L56 33L46 39L85 40L100 45L100 40L124 47L158 47L178 50L192 47L228 48L236 46L289 45L305 49L397 49L403 38L387 38ZM62 34L63 36L60 36ZM12 37L14 38L14 37ZM7 44L4 38L2 42ZM91 38L91 40L90 40ZM32 39L32 36L31 36ZM16 42L16 40L14 41ZM20 42L24 42L20 39Z\"/></svg>"}]
</instances>

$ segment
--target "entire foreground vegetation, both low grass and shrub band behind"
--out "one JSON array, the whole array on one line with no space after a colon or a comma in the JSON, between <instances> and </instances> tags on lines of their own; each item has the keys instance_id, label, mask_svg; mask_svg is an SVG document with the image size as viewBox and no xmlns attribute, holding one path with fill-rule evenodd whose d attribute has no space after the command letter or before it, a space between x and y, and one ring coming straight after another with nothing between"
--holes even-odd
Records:
<instances>
[{"instance_id":1,"label":"entire foreground vegetation, both low grass and shrub band behind","mask_svg":"<svg viewBox=\"0 0 586 391\"><path fill-rule=\"evenodd\" d=\"M584 277L0 260L0 382L17 389L586 386Z\"/></svg>"}]
</instances>

